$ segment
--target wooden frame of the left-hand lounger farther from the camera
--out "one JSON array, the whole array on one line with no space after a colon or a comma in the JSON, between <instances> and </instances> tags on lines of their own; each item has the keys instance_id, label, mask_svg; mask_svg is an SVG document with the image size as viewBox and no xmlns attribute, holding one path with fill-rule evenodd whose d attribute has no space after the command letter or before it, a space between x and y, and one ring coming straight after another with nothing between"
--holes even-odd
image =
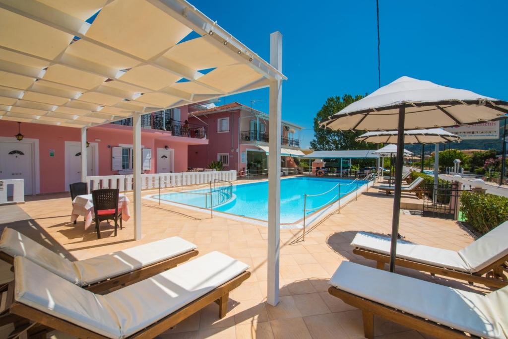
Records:
<instances>
[{"instance_id":1,"label":"wooden frame of the left-hand lounger farther from the camera","mask_svg":"<svg viewBox=\"0 0 508 339\"><path fill-rule=\"evenodd\" d=\"M198 254L199 254L198 250L188 251L176 257L168 258L166 260L141 267L134 271L113 276L101 282L93 283L88 286L83 286L83 288L97 294L110 292L112 289L137 283L139 281L150 278L150 276L164 272L170 268L176 267L176 265L181 264L189 260L190 258L197 256ZM14 263L14 258L4 252L0 252L0 259L8 262L11 265L13 265Z\"/></svg>"}]
</instances>

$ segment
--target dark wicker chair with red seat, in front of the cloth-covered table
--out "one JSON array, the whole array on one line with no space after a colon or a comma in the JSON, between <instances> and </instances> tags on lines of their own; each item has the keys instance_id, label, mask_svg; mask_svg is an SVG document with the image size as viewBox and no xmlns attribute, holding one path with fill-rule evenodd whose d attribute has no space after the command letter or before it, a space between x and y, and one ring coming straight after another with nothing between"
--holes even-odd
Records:
<instances>
[{"instance_id":1,"label":"dark wicker chair with red seat, in front of the cloth-covered table","mask_svg":"<svg viewBox=\"0 0 508 339\"><path fill-rule=\"evenodd\" d=\"M115 221L115 236L118 227L118 219L120 219L120 229L122 229L122 212L118 210L118 190L102 189L92 191L93 212L95 214L97 238L101 238L101 230L99 224L102 220Z\"/></svg>"}]
</instances>

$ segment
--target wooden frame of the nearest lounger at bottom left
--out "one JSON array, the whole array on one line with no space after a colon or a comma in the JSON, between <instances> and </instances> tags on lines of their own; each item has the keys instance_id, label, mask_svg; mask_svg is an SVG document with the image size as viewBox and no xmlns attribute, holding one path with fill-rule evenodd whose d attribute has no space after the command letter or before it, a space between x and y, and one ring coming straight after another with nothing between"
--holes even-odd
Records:
<instances>
[{"instance_id":1,"label":"wooden frame of the nearest lounger at bottom left","mask_svg":"<svg viewBox=\"0 0 508 339\"><path fill-rule=\"evenodd\" d=\"M134 333L133 335L129 336L129 338L153 338L158 334L165 332L170 327L175 326L182 320L202 310L205 306L214 301L219 305L219 318L220 319L224 318L228 311L229 293L238 286L240 286L245 280L249 278L249 276L250 276L249 271L244 271L243 273L240 273L227 283L217 287L211 292L208 292L207 294L194 300L193 302L188 303L187 305L181 307L181 309L151 324L150 326L140 330L139 332ZM30 337L32 337L33 335L41 335L42 337L42 335L45 335L46 331L42 329L42 326L45 326L46 328L59 330L80 338L107 338L101 334L90 331L89 329L78 326L69 321L57 318L45 312L36 310L33 307L15 301L14 288L15 282L13 281L9 283L9 292L8 292L8 304L10 313L37 324L35 327L21 329L20 332L23 331L25 333L27 332L27 334Z\"/></svg>"}]
</instances>

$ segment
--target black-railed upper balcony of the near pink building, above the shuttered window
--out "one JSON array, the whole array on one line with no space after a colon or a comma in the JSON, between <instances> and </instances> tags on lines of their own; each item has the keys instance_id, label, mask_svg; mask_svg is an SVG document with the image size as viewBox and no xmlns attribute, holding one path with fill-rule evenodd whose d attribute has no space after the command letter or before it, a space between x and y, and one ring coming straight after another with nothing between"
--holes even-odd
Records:
<instances>
[{"instance_id":1,"label":"black-railed upper balcony of the near pink building, above the shuttered window","mask_svg":"<svg viewBox=\"0 0 508 339\"><path fill-rule=\"evenodd\" d=\"M111 122L114 125L132 126L132 118ZM141 127L152 130L171 131L177 137L206 139L208 127L198 124L186 124L184 121L163 119L162 113L145 114L141 117Z\"/></svg>"}]
</instances>

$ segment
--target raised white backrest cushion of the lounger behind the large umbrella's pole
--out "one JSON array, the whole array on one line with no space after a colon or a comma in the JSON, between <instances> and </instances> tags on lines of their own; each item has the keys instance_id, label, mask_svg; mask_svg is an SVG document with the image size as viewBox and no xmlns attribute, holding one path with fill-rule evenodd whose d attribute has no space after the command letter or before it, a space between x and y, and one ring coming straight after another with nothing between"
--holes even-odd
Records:
<instances>
[{"instance_id":1,"label":"raised white backrest cushion of the lounger behind the large umbrella's pole","mask_svg":"<svg viewBox=\"0 0 508 339\"><path fill-rule=\"evenodd\" d=\"M508 255L508 221L459 251L471 272L481 269Z\"/></svg>"}]
</instances>

